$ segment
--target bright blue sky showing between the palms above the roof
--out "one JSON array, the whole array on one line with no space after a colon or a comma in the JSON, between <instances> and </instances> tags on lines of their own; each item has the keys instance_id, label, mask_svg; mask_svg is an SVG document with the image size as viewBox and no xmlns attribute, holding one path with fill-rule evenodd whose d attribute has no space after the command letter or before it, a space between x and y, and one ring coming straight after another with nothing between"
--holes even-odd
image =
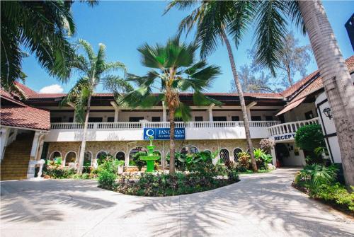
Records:
<instances>
[{"instance_id":1,"label":"bright blue sky showing between the palms above the roof","mask_svg":"<svg viewBox=\"0 0 354 237\"><path fill-rule=\"evenodd\" d=\"M76 23L76 35L73 41L82 38L98 49L98 43L103 43L107 50L107 60L123 62L130 73L142 75L147 69L139 62L137 47L144 42L154 44L164 43L176 34L178 23L188 12L173 10L162 16L166 1L101 1L93 8L86 4L74 4L72 11ZM339 47L345 58L353 55L346 28L344 24L353 14L354 1L324 1L327 16L333 27ZM309 40L297 33L300 45L309 44ZM191 35L192 36L192 35ZM188 37L187 40L190 40ZM241 45L234 49L236 66L249 63L246 50L253 45L253 31L247 33ZM307 66L307 72L316 70L316 62ZM222 74L215 80L210 92L228 92L229 81L232 79L232 71L229 67L226 48L220 45L218 50L207 58L210 64L216 64L222 68ZM36 59L32 56L23 60L23 71L28 75L25 81L27 86L35 91L40 91L45 86L52 86L49 91L69 91L76 78L67 83L60 83L57 79L48 76L45 70L40 68ZM295 79L300 79L297 75Z\"/></svg>"}]
</instances>

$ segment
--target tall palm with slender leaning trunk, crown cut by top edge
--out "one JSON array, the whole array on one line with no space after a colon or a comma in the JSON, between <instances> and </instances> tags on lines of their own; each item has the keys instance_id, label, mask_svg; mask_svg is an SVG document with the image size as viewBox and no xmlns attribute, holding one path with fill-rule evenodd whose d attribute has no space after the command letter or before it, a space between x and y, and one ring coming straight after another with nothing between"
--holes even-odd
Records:
<instances>
[{"instance_id":1,"label":"tall palm with slender leaning trunk, crown cut by top edge","mask_svg":"<svg viewBox=\"0 0 354 237\"><path fill-rule=\"evenodd\" d=\"M197 6L189 16L186 16L181 21L178 33L183 30L187 33L194 26L197 28L195 41L200 43L200 56L205 58L208 54L215 51L219 42L224 42L227 47L229 62L234 76L234 82L239 93L242 115L244 119L244 128L246 132L247 146L251 155L251 164L253 171L257 171L256 159L253 154L253 145L251 133L249 129L249 117L247 117L246 103L244 93L239 81L239 75L236 71L236 63L234 53L229 42L228 34L232 35L236 45L239 44L241 36L246 30L246 26L254 15L256 2L253 1L171 1L166 8L169 11L171 8L178 9L190 8Z\"/></svg>"}]
</instances>

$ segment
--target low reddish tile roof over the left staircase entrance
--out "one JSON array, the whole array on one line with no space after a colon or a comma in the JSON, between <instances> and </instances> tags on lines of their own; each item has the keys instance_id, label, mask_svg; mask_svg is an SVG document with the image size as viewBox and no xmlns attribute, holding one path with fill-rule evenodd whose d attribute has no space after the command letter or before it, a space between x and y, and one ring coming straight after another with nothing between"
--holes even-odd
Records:
<instances>
[{"instance_id":1,"label":"low reddish tile roof over the left staircase entrance","mask_svg":"<svg viewBox=\"0 0 354 237\"><path fill-rule=\"evenodd\" d=\"M1 106L1 125L49 130L50 112L30 106Z\"/></svg>"}]
</instances>

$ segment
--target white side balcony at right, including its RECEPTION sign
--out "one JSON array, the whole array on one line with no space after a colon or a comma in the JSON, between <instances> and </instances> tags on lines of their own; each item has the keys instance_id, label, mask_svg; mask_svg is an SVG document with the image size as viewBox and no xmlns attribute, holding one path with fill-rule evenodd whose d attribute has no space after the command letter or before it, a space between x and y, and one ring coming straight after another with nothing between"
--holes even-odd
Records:
<instances>
[{"instance_id":1,"label":"white side balcony at right, including its RECEPTION sign","mask_svg":"<svg viewBox=\"0 0 354 237\"><path fill-rule=\"evenodd\" d=\"M299 127L304 125L313 125L319 123L319 117L311 120L302 120L296 122L286 122L272 127L268 127L268 137L275 141L289 141L295 139L295 133Z\"/></svg>"}]
</instances>

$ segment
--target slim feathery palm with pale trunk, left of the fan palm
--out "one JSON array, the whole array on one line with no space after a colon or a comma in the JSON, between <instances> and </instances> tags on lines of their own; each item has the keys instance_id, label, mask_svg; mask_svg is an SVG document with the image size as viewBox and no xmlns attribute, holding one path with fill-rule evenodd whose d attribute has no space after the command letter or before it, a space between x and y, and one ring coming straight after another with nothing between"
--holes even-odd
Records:
<instances>
[{"instance_id":1,"label":"slim feathery palm with pale trunk, left of the fan palm","mask_svg":"<svg viewBox=\"0 0 354 237\"><path fill-rule=\"evenodd\" d=\"M82 173L84 153L86 148L86 131L89 123L90 105L92 95L98 85L103 85L108 91L113 91L115 96L120 92L132 91L132 86L120 76L110 74L115 70L125 71L121 62L105 62L105 45L99 44L98 53L94 54L93 48L85 40L79 40L86 55L76 55L72 67L79 72L80 77L75 86L67 93L61 105L74 103L76 121L84 122L81 148L79 154L79 168L77 173Z\"/></svg>"}]
</instances>

